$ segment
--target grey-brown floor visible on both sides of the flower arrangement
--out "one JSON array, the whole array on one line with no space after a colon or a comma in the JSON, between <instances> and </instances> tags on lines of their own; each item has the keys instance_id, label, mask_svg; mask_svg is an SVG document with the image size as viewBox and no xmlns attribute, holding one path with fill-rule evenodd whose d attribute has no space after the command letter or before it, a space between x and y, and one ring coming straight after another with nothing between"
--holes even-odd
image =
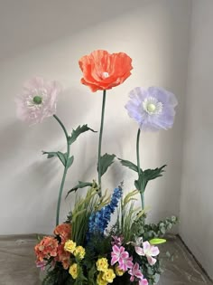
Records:
<instances>
[{"instance_id":1,"label":"grey-brown floor visible on both sides of the flower arrangement","mask_svg":"<svg viewBox=\"0 0 213 285\"><path fill-rule=\"evenodd\" d=\"M35 235L0 237L0 285L40 285L34 264ZM174 261L164 259L165 270L158 285L212 285L179 238L161 246L174 253ZM176 256L178 255L178 256Z\"/></svg>"}]
</instances>

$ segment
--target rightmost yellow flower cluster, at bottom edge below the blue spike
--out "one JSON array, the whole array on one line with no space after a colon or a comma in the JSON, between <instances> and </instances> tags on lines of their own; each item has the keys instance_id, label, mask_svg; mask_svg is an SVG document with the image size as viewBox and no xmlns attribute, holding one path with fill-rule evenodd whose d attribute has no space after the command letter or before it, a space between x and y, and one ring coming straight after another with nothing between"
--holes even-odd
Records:
<instances>
[{"instance_id":1,"label":"rightmost yellow flower cluster, at bottom edge below the blue spike","mask_svg":"<svg viewBox=\"0 0 213 285\"><path fill-rule=\"evenodd\" d=\"M108 268L108 261L106 258L99 258L96 264L97 271L99 271L97 275L97 285L112 283L116 278L116 274L112 269Z\"/></svg>"}]
</instances>

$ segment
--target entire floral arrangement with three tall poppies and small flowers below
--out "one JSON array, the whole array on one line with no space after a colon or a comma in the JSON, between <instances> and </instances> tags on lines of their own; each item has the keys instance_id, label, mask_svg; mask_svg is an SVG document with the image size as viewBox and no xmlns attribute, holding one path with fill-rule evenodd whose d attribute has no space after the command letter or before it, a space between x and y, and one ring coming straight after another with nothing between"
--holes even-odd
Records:
<instances>
[{"instance_id":1,"label":"entire floral arrangement with three tall poppies and small flowers below","mask_svg":"<svg viewBox=\"0 0 213 285\"><path fill-rule=\"evenodd\" d=\"M136 87L129 93L125 109L138 123L136 136L136 161L117 157L122 166L137 173L134 190L124 193L123 184L116 186L110 195L103 191L101 177L106 174L116 155L102 155L102 134L106 109L106 90L122 84L130 75L131 58L125 52L112 53L98 50L79 60L83 73L81 83L96 92L103 90L103 102L97 150L97 181L79 181L68 195L75 196L73 209L67 220L60 222L60 201L69 167L74 162L70 146L86 131L95 133L88 125L73 129L71 134L56 115L60 94L57 81L33 78L24 84L23 94L16 99L17 115L30 124L53 117L60 124L67 144L67 151L44 151L47 158L58 157L64 168L56 210L56 227L52 236L44 236L35 246L36 265L46 276L43 285L69 284L156 284L162 274L161 243L165 233L177 223L171 216L159 223L146 223L144 193L150 180L162 176L164 166L142 169L140 166L140 134L143 130L172 127L177 100L162 88ZM79 188L88 187L80 196ZM140 195L141 206L135 206ZM112 218L114 216L114 218Z\"/></svg>"}]
</instances>

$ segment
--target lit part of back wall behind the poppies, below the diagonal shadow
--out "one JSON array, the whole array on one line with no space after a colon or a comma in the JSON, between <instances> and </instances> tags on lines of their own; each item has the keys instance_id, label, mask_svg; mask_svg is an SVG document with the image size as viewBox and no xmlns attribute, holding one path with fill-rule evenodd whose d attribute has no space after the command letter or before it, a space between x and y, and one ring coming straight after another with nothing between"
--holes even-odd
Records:
<instances>
[{"instance_id":1,"label":"lit part of back wall behind the poppies, below the diagonal shadow","mask_svg":"<svg viewBox=\"0 0 213 285\"><path fill-rule=\"evenodd\" d=\"M154 221L179 214L183 106L190 1L141 1L126 14L108 22L88 26L78 33L49 45L1 62L0 66L0 234L51 233L62 168L56 159L47 160L43 150L64 150L64 138L53 119L28 127L15 117L14 97L23 81L34 75L55 79L64 91L57 115L71 130L88 123L99 128L101 93L91 93L79 83L79 58L95 49L126 52L133 58L133 75L107 92L103 153L135 160L137 125L129 119L124 105L128 91L135 86L162 86L177 95L179 107L174 128L142 135L142 166L168 164L167 171L152 182L145 196ZM62 15L61 15L62 16ZM59 19L58 19L59 21ZM65 192L78 180L97 178L97 139L87 133L71 148L75 155L69 169ZM125 180L125 190L134 188L134 175L116 163L106 174L103 185L112 190ZM60 221L68 214L73 197L62 204Z\"/></svg>"}]
</instances>

